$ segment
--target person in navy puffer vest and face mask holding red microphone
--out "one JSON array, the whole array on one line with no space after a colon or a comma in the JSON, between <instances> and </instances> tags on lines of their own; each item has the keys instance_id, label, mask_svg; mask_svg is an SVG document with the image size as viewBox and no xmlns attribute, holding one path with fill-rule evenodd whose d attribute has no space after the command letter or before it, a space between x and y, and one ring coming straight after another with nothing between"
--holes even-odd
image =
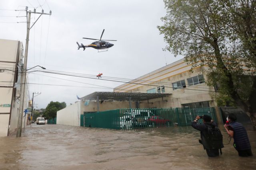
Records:
<instances>
[{"instance_id":1,"label":"person in navy puffer vest and face mask holding red microphone","mask_svg":"<svg viewBox=\"0 0 256 170\"><path fill-rule=\"evenodd\" d=\"M227 117L229 125L226 123L224 128L230 137L234 138L234 148L239 156L252 156L250 141L244 126L236 121L236 115L233 113Z\"/></svg>"}]
</instances>

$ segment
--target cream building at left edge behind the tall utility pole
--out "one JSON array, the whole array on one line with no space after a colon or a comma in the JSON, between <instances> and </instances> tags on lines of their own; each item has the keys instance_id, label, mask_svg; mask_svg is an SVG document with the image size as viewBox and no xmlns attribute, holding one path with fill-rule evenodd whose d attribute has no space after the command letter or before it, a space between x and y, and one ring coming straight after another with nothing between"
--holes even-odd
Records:
<instances>
[{"instance_id":1,"label":"cream building at left edge behind the tall utility pole","mask_svg":"<svg viewBox=\"0 0 256 170\"><path fill-rule=\"evenodd\" d=\"M10 135L18 127L20 66L22 64L22 42L0 39L0 137ZM24 109L28 107L27 94L26 90ZM28 117L23 117L24 119L26 123Z\"/></svg>"}]
</instances>

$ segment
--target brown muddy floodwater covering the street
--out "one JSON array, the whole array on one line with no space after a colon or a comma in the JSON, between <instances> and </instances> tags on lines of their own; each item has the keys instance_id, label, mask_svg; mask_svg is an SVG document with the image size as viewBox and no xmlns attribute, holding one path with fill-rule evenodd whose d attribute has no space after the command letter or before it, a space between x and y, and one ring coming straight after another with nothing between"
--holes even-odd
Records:
<instances>
[{"instance_id":1,"label":"brown muddy floodwater covering the street","mask_svg":"<svg viewBox=\"0 0 256 170\"><path fill-rule=\"evenodd\" d=\"M117 131L33 124L21 138L0 137L0 170L255 170L256 132L248 131L254 156L243 158L221 130L223 154L209 158L192 127Z\"/></svg>"}]
</instances>

